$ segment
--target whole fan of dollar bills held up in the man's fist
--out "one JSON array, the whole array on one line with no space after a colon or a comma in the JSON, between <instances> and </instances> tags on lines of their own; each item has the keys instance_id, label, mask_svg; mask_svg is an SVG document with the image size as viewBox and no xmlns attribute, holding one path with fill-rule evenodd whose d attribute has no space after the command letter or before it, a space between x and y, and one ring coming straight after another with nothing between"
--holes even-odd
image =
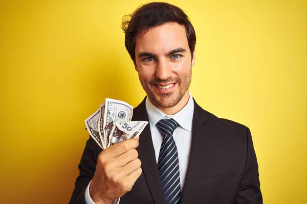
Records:
<instances>
[{"instance_id":1,"label":"whole fan of dollar bills held up in the man's fist","mask_svg":"<svg viewBox=\"0 0 307 204\"><path fill-rule=\"evenodd\" d=\"M139 137L147 121L131 121L133 106L121 100L106 98L90 117L85 120L87 131L102 148Z\"/></svg>"}]
</instances>

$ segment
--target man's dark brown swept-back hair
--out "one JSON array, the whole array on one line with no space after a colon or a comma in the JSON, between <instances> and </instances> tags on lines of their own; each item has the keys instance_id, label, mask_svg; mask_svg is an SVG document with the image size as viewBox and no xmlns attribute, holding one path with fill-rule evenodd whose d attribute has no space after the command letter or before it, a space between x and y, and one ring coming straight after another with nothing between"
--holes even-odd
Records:
<instances>
[{"instance_id":1,"label":"man's dark brown swept-back hair","mask_svg":"<svg viewBox=\"0 0 307 204\"><path fill-rule=\"evenodd\" d=\"M125 46L134 63L136 63L136 36L167 22L177 22L185 26L190 52L193 56L196 35L188 16L177 6L163 2L152 2L140 6L133 14L125 15L122 20Z\"/></svg>"}]
</instances>

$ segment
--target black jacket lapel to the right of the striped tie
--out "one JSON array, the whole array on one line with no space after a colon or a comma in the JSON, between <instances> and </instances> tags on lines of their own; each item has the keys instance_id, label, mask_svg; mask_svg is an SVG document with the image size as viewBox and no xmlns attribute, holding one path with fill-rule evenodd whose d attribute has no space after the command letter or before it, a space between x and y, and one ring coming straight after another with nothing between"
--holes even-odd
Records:
<instances>
[{"instance_id":1,"label":"black jacket lapel to the right of the striped tie","mask_svg":"<svg viewBox=\"0 0 307 204\"><path fill-rule=\"evenodd\" d=\"M198 187L201 170L202 158L204 154L204 144L206 143L206 116L203 109L194 100L194 114L192 124L192 145L190 151L189 166L187 169L185 184L182 191L181 203L192 203L194 192Z\"/></svg>"}]
</instances>

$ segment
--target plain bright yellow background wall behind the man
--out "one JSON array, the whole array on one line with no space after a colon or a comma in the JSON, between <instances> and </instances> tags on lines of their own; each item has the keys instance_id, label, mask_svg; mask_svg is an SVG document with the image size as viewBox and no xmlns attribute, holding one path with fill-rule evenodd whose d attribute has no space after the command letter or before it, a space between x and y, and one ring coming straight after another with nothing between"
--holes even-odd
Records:
<instances>
[{"instance_id":1,"label":"plain bright yellow background wall behind the man","mask_svg":"<svg viewBox=\"0 0 307 204\"><path fill-rule=\"evenodd\" d=\"M105 97L145 96L124 14L147 1L1 1L2 203L68 203ZM306 1L169 1L196 30L190 92L250 127L265 203L307 203Z\"/></svg>"}]
</instances>

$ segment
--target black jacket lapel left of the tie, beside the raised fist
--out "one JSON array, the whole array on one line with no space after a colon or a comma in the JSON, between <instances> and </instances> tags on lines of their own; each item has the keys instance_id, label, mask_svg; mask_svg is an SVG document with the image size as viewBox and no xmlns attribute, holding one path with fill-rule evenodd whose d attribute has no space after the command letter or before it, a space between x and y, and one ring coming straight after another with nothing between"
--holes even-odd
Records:
<instances>
[{"instance_id":1,"label":"black jacket lapel left of the tie, beside the raised fist","mask_svg":"<svg viewBox=\"0 0 307 204\"><path fill-rule=\"evenodd\" d=\"M148 121L145 99L138 107L134 109L133 120ZM146 125L145 129L140 135L139 147L137 150L139 152L139 159L142 162L142 170L153 200L155 203L165 203L149 124Z\"/></svg>"}]
</instances>

